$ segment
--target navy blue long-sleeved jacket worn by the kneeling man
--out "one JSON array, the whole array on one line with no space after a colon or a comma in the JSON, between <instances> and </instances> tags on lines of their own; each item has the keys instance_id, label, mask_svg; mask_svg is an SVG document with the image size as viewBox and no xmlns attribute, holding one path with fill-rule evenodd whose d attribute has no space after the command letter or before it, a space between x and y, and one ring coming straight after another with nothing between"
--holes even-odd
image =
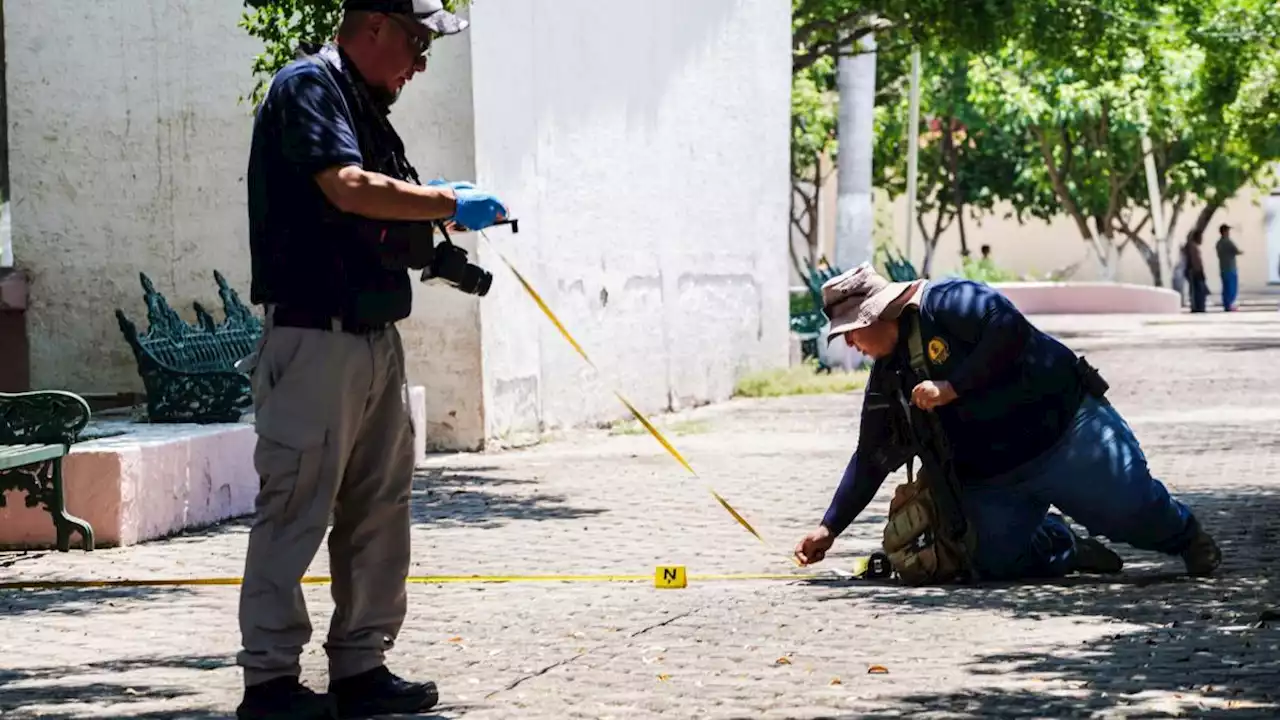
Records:
<instances>
[{"instance_id":1,"label":"navy blue long-sleeved jacket worn by the kneeling man","mask_svg":"<svg viewBox=\"0 0 1280 720\"><path fill-rule=\"evenodd\" d=\"M905 373L911 387L925 379L910 369L908 318L900 320L895 352L872 366L858 450L823 518L833 534L849 527L913 454L893 432L895 423L906 421L895 396L897 374ZM934 413L961 486L1005 474L1065 434L1083 398L1075 352L1033 327L1009 299L972 281L929 283L919 320L928 379L951 383L957 395Z\"/></svg>"}]
</instances>

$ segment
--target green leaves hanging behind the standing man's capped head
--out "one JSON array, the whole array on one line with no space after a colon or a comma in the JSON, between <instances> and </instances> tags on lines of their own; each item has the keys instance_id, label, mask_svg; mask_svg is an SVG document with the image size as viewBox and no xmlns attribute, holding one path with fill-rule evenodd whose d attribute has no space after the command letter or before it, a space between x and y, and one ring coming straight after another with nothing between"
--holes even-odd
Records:
<instances>
[{"instance_id":1,"label":"green leaves hanging behind the standing man's capped head","mask_svg":"<svg viewBox=\"0 0 1280 720\"><path fill-rule=\"evenodd\" d=\"M262 100L271 77L293 61L303 42L328 42L342 20L342 0L243 0L241 27L262 41L262 51L253 58L253 90L251 102ZM458 10L471 0L444 0L449 10Z\"/></svg>"}]
</instances>

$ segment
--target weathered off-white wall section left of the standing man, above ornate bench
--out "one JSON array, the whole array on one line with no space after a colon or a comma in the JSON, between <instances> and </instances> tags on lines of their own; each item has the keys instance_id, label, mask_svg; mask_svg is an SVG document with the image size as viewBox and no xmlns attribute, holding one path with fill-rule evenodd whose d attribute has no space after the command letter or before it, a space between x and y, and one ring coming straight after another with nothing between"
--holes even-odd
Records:
<instances>
[{"instance_id":1,"label":"weathered off-white wall section left of the standing man, above ornate bench","mask_svg":"<svg viewBox=\"0 0 1280 720\"><path fill-rule=\"evenodd\" d=\"M192 318L212 270L248 287L257 50L239 3L5 3L13 250L32 277L32 383L141 386L113 313L146 272Z\"/></svg>"}]
</instances>

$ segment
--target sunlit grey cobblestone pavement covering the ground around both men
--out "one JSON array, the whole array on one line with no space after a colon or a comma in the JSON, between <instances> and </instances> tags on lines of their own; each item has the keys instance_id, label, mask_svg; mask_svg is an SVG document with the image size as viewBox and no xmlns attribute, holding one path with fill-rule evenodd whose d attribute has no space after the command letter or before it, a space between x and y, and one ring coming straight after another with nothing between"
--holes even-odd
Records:
<instances>
[{"instance_id":1,"label":"sunlit grey cobblestone pavement covering the ground around both men","mask_svg":"<svg viewBox=\"0 0 1280 720\"><path fill-rule=\"evenodd\" d=\"M1224 546L1219 577L1120 547L1124 577L1048 584L415 584L393 669L438 679L436 716L451 719L1280 715L1280 621L1260 621L1280 605L1280 314L1037 322L1103 370L1155 471ZM799 573L783 553L826 507L858 405L735 401L663 420L772 548L648 436L596 430L434 457L416 486L413 574ZM897 479L824 566L876 547ZM0 553L0 582L237 575L244 542L237 523L88 555ZM323 552L312 571L326 574ZM320 641L328 591L306 598ZM236 605L234 587L0 592L0 715L229 716ZM317 643L303 665L323 687Z\"/></svg>"}]
</instances>

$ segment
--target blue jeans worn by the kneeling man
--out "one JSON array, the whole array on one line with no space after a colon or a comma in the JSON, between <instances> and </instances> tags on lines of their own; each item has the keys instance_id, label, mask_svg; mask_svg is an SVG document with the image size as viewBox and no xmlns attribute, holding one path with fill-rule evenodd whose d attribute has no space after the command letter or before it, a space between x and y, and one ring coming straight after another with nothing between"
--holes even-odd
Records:
<instances>
[{"instance_id":1,"label":"blue jeans worn by the kneeling man","mask_svg":"<svg viewBox=\"0 0 1280 720\"><path fill-rule=\"evenodd\" d=\"M963 488L977 532L974 564L988 580L1057 578L1071 571L1075 537L1055 505L1089 534L1178 555L1190 542L1190 510L1151 477L1138 438L1107 404L1087 397L1056 446L1011 473Z\"/></svg>"}]
</instances>

